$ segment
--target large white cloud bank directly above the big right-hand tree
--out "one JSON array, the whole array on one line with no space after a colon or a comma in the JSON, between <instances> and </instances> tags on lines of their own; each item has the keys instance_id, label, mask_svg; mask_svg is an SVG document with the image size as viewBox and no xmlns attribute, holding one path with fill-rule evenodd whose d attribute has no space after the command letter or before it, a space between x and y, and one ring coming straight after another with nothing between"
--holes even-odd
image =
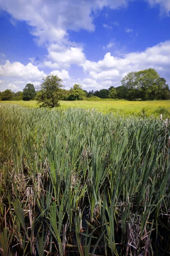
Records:
<instances>
[{"instance_id":1,"label":"large white cloud bank directly above the big right-hand tree","mask_svg":"<svg viewBox=\"0 0 170 256\"><path fill-rule=\"evenodd\" d=\"M98 84L108 87L110 82L114 86L120 85L122 78L131 71L154 68L157 72L170 81L170 41L147 48L144 52L130 52L122 58L114 57L110 52L106 53L103 60L98 62L85 61L82 65L85 73ZM108 83L108 86L107 86Z\"/></svg>"}]
</instances>

